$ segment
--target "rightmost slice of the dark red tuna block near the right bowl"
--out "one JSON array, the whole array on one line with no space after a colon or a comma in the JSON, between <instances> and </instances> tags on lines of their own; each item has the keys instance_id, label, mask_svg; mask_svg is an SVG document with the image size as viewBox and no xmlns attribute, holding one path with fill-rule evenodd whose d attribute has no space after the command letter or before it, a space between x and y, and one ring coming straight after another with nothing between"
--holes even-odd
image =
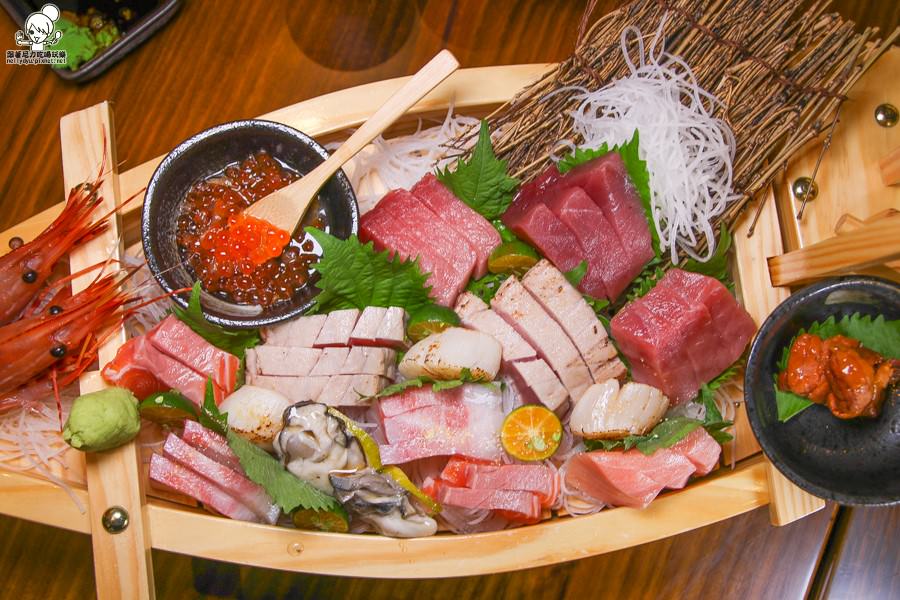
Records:
<instances>
[{"instance_id":1,"label":"rightmost slice of the dark red tuna block near the right bowl","mask_svg":"<svg viewBox=\"0 0 900 600\"><path fill-rule=\"evenodd\" d=\"M703 302L709 311L714 327L710 337L715 339L718 351L712 360L703 363L697 375L704 382L728 368L744 352L756 332L753 317L738 304L719 281L700 273L671 269L659 282L663 289L671 289L688 302Z\"/></svg>"}]
</instances>

